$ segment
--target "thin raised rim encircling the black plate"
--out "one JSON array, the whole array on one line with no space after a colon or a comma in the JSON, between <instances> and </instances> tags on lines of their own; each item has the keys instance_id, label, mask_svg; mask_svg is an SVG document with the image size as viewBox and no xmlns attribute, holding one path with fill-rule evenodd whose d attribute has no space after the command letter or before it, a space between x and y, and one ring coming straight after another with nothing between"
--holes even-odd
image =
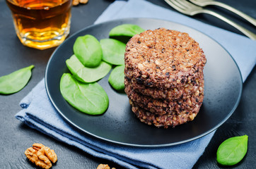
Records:
<instances>
[{"instance_id":1,"label":"thin raised rim encircling the black plate","mask_svg":"<svg viewBox=\"0 0 256 169\"><path fill-rule=\"evenodd\" d=\"M125 21L131 21L131 20L162 20L162 21L165 21L165 22L169 22L169 23L175 23L173 21L170 21L170 20L163 20L163 19L156 19L156 18L122 18L122 19L117 19L117 20L108 20L108 21L105 21L103 23L98 23L98 24L95 24L95 25L105 25L105 24L108 24L108 23L112 23L112 22L125 22ZM182 25L182 26L185 26L185 27L189 27L187 25L183 25L183 24L180 24L180 23L175 23L175 24L178 24L178 25ZM66 118L66 116L62 113L62 111L59 110L59 108L56 106L56 104L54 103L54 100L52 99L52 96L49 92L49 86L48 86L48 82L47 82L47 72L48 72L48 69L50 67L50 63L52 61L52 58L54 58L54 55L55 53L57 53L57 51L59 50L60 46L63 46L65 44L66 41L68 41L69 39L71 39L71 37L75 37L76 35L78 35L80 32L83 32L84 30L87 30L91 27L94 27L95 26L94 24L93 25L89 25L88 27L84 27L83 29L81 30L78 30L77 32L74 32L73 35L69 36L62 44L60 44L56 49L54 49L54 52L52 53L52 55L50 56L50 59L47 63L47 67L46 67L46 70L45 70L45 88L46 88L46 91L47 91L47 95L52 103L52 105L54 106L54 108L57 110L57 112L62 115L62 118L64 118L64 120L66 120L69 124L73 125L74 127L78 128L78 130L81 130L81 132L83 133L86 133L88 134L88 136L90 137L95 137L97 139L100 139L102 141L105 141L105 142L109 142L109 143L114 143L114 144L119 144L119 145L123 145L123 146L134 146L134 147L162 147L162 146L175 146L175 145L178 145L178 144L183 144L183 143L186 143L186 142L191 142L195 139L199 139L201 137L204 137L206 134L210 134L211 132L214 132L216 129L218 129L221 125L223 125L223 123L226 122L226 120L228 120L228 118L231 117L231 115L233 114L233 112L235 111L235 109L238 107L238 104L240 102L240 98L242 96L242 91L243 91L243 78L242 78L242 75L240 73L240 68L238 67L238 64L235 62L234 58L231 56L231 54L229 54L229 52L221 45L219 44L219 42L217 42L215 39L209 37L209 35L206 35L204 34L204 32L201 32L197 29L195 29L194 27L190 27L191 29L193 30L196 30L197 32L200 32L202 33L203 35L209 37L210 39L212 39L214 42L216 42L217 44L219 44L219 46L221 46L221 48L223 48L227 53L228 55L232 58L232 60L234 61L236 67L238 68L238 72L240 74L240 82L241 82L241 85L240 85L240 89L239 89L239 96L237 98L237 101L235 102L235 105L233 106L233 109L230 111L230 113L228 113L228 115L226 116L226 118L224 118L221 123L219 123L218 125L216 125L215 127L213 127L211 130L208 130L207 132L204 132L202 134L199 134L197 137L192 137L190 139L185 139L183 141L180 141L180 142L174 142L174 143L170 143L170 144L154 144L154 145L151 145L151 144L128 144L128 143L123 143L123 142L117 142L117 141L113 141L111 139L105 139L103 137L99 137L91 132L88 132L86 130L84 130L83 128L79 127L78 125L74 124L71 120L69 120L69 118Z\"/></svg>"}]
</instances>

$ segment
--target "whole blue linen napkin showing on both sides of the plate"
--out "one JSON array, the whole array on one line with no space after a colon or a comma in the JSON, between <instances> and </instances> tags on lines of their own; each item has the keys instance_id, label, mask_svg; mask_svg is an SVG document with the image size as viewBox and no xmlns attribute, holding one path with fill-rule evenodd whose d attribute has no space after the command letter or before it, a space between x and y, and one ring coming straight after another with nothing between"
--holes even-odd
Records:
<instances>
[{"instance_id":1,"label":"whole blue linen napkin showing on both sides of the plate","mask_svg":"<svg viewBox=\"0 0 256 169\"><path fill-rule=\"evenodd\" d=\"M153 5L144 0L115 1L95 23L115 18L144 17L169 19L201 30L216 39L233 56L243 75L243 81L256 62L256 42L217 27ZM228 40L227 40L228 39ZM239 47L238 47L239 46ZM246 58L246 59L245 59ZM80 132L57 113L52 106L42 80L20 103L23 108L16 114L18 120L54 139L76 146L88 154L118 163L125 168L192 168L204 152L214 132L192 142L160 148L120 146L103 142Z\"/></svg>"}]
</instances>

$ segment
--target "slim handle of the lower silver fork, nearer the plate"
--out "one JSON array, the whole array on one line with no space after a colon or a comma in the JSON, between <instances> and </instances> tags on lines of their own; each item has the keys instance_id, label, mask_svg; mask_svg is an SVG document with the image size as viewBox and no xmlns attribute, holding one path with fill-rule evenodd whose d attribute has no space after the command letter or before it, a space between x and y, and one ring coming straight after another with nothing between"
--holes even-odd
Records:
<instances>
[{"instance_id":1,"label":"slim handle of the lower silver fork, nearer the plate","mask_svg":"<svg viewBox=\"0 0 256 169\"><path fill-rule=\"evenodd\" d=\"M244 35L248 36L250 39L255 40L256 35L253 32L250 32L250 30L245 29L245 27L242 27L238 25L237 23L234 23L232 20L229 20L228 18L225 18L223 15L220 15L219 13L216 13L214 11L209 11L209 10L203 10L204 13L208 13L210 15L214 15L215 17L223 20L224 22L228 23L229 25L232 25L236 29L240 30L240 32L243 32Z\"/></svg>"}]
</instances>

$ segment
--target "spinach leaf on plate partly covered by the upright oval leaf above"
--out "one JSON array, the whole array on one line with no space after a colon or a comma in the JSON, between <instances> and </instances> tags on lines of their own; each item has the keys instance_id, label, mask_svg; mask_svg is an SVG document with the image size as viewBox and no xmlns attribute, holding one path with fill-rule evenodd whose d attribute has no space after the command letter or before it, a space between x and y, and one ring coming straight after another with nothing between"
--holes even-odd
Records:
<instances>
[{"instance_id":1,"label":"spinach leaf on plate partly covered by the upright oval leaf above","mask_svg":"<svg viewBox=\"0 0 256 169\"><path fill-rule=\"evenodd\" d=\"M66 66L69 68L70 72L76 77L77 80L81 82L95 82L105 77L107 73L110 72L112 65L100 62L95 68L85 67L75 55L66 60Z\"/></svg>"}]
</instances>

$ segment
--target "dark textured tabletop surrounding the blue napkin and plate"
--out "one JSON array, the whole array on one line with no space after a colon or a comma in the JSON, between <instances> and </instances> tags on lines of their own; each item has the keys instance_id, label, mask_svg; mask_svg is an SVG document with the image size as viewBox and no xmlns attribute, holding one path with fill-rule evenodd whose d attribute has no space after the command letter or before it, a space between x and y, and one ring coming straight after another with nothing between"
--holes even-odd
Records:
<instances>
[{"instance_id":1,"label":"dark textured tabletop surrounding the blue napkin and plate","mask_svg":"<svg viewBox=\"0 0 256 169\"><path fill-rule=\"evenodd\" d=\"M256 18L256 1L252 0L221 0L240 11ZM165 4L163 0L151 0L153 4L158 4L165 8L173 10ZM72 8L71 32L81 30L83 27L92 25L98 16L107 8L112 1L107 0L89 0L86 5L79 5ZM208 7L211 10L218 11L232 18L235 22L240 23L252 32L256 33L255 27L246 23L232 13L217 7ZM199 14L193 18L201 20L204 23L215 25L232 32L238 32L235 28L223 23L223 21L210 15ZM256 46L255 46L256 47ZM30 49L23 46L16 37L11 12L6 6L4 0L0 0L0 76L6 75L24 68L28 65L35 65L33 77L28 85L16 94L0 95L0 168L36 168L30 163L24 155L25 149L35 142L43 143L50 146L57 152L59 160L52 168L97 168L100 163L108 163L111 167L122 168L121 166L105 161L100 158L94 158L90 154L86 154L80 149L59 142L51 137L33 130L16 120L14 115L21 110L19 101L30 92L33 87L40 82L45 76L45 68L54 49L40 51ZM246 56L244 56L246 57ZM245 58L246 59L246 58ZM248 134L248 153L243 161L233 166L233 168L256 168L256 68L252 70L248 79L243 84L243 94L238 108L235 110L231 118L221 125L214 134L213 139L206 147L204 154L194 165L194 168L225 168L216 163L216 150L223 140L238 135ZM171 160L171 159L170 159Z\"/></svg>"}]
</instances>

